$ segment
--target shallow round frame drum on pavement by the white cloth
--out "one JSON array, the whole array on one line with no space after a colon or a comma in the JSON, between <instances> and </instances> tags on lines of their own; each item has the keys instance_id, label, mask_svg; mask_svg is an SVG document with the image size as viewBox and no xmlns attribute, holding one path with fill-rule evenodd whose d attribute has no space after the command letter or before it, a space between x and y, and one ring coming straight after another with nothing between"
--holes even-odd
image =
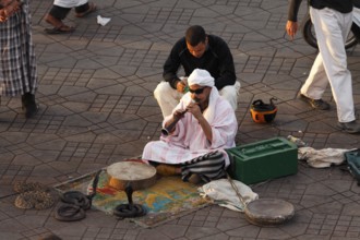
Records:
<instances>
[{"instance_id":1,"label":"shallow round frame drum on pavement by the white cloth","mask_svg":"<svg viewBox=\"0 0 360 240\"><path fill-rule=\"evenodd\" d=\"M289 202L278 199L260 199L250 202L244 209L249 223L273 227L293 217L295 208Z\"/></svg>"}]
</instances>

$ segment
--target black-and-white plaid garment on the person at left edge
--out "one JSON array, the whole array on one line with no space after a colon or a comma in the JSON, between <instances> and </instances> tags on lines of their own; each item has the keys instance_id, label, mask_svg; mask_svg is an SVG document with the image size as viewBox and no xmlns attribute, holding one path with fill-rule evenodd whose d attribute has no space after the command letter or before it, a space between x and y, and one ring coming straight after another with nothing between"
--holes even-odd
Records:
<instances>
[{"instance_id":1,"label":"black-and-white plaid garment on the person at left edge","mask_svg":"<svg viewBox=\"0 0 360 240\"><path fill-rule=\"evenodd\" d=\"M28 0L0 23L0 95L35 94L37 71Z\"/></svg>"}]
</instances>

